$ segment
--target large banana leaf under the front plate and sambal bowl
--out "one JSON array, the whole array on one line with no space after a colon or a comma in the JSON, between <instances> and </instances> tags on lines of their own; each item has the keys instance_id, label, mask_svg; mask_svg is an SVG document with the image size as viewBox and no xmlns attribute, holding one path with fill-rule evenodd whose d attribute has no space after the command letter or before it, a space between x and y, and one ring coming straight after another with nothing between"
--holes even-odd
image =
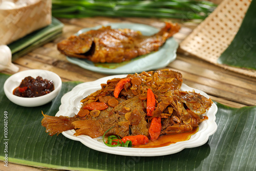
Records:
<instances>
[{"instance_id":1,"label":"large banana leaf under the front plate and sambal bowl","mask_svg":"<svg viewBox=\"0 0 256 171\"><path fill-rule=\"evenodd\" d=\"M0 74L0 86L3 87L8 77ZM62 134L49 136L45 127L41 126L41 111L54 116L62 95L78 83L63 82L60 94L52 102L36 108L18 106L7 99L3 89L0 91L0 160L4 164L8 160L18 164L67 170L256 169L256 106L234 109L217 103L217 132L202 146L186 148L167 156L112 155L90 149ZM7 122L4 124L4 121ZM5 126L8 127L7 132L4 132Z\"/></svg>"}]
</instances>

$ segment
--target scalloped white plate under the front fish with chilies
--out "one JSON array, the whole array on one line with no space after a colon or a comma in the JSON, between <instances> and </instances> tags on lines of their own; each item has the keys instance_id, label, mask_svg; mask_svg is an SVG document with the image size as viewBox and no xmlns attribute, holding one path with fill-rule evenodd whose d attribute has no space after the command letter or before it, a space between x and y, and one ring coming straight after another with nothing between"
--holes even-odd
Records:
<instances>
[{"instance_id":1,"label":"scalloped white plate under the front fish with chilies","mask_svg":"<svg viewBox=\"0 0 256 171\"><path fill-rule=\"evenodd\" d=\"M108 79L112 78L122 78L126 77L126 75L114 75L108 76L104 78L100 78L96 81L85 82L78 84L76 87L72 89L72 91L66 93L61 98L61 105L59 107L59 111L56 116L69 116L72 117L78 113L81 103L80 100L84 97L87 97L91 93L96 90L101 89L100 84L105 83ZM181 87L184 91L192 91L193 89L182 84ZM200 91L194 89L197 93L209 98L209 96ZM80 141L84 145L95 149L100 152L115 154L115 155L123 155L123 156L164 156L169 154L174 154L182 151L184 148L191 148L203 145L207 142L210 135L214 134L217 130L217 124L215 122L215 114L217 113L217 105L213 103L211 108L204 114L208 116L208 120L203 121L199 125L199 131L192 135L191 138L187 141L177 142L175 144L170 144L164 147L158 148L127 148L127 147L109 147L106 146L102 142L102 137L92 139L89 136L80 135L74 136L75 131L69 130L62 132L64 136L70 138L72 140Z\"/></svg>"}]
</instances>

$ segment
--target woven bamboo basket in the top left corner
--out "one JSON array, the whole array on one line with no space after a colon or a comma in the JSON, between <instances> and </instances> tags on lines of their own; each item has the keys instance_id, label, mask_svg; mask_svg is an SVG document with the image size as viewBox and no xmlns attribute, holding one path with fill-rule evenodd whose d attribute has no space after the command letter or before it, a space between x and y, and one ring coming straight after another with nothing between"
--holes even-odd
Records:
<instances>
[{"instance_id":1,"label":"woven bamboo basket in the top left corner","mask_svg":"<svg viewBox=\"0 0 256 171\"><path fill-rule=\"evenodd\" d=\"M25 7L0 10L0 45L8 45L35 30L50 25L51 8L51 0L37 0Z\"/></svg>"}]
</instances>

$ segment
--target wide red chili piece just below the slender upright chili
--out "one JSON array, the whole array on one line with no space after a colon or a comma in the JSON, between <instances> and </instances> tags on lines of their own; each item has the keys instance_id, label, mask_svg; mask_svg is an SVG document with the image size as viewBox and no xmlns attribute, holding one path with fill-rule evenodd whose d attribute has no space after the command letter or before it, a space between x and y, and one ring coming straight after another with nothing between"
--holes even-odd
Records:
<instances>
[{"instance_id":1,"label":"wide red chili piece just below the slender upright chili","mask_svg":"<svg viewBox=\"0 0 256 171\"><path fill-rule=\"evenodd\" d=\"M162 129L161 118L160 117L153 118L151 121L150 129L148 130L148 133L150 133L151 141L155 141L158 139L161 129Z\"/></svg>"}]
</instances>

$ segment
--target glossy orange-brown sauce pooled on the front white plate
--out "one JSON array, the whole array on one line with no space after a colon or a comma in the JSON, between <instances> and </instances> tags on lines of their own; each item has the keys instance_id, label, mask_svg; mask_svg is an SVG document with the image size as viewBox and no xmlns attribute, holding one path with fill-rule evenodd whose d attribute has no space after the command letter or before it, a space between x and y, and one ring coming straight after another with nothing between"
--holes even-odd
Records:
<instances>
[{"instance_id":1,"label":"glossy orange-brown sauce pooled on the front white plate","mask_svg":"<svg viewBox=\"0 0 256 171\"><path fill-rule=\"evenodd\" d=\"M198 130L199 130L199 127L196 127L191 132L172 134L172 135L162 135L162 136L159 136L156 141L150 141L147 144L137 145L133 147L134 148L156 148L156 147L167 146L170 144L174 144L176 142L189 140L191 135L196 134Z\"/></svg>"}]
</instances>

